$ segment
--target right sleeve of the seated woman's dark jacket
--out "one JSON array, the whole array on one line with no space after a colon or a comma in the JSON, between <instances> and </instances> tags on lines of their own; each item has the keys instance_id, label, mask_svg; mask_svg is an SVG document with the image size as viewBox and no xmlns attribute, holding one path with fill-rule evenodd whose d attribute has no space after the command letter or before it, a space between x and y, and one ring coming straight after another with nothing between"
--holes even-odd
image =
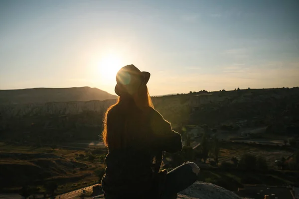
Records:
<instances>
[{"instance_id":1,"label":"right sleeve of the seated woman's dark jacket","mask_svg":"<svg viewBox=\"0 0 299 199\"><path fill-rule=\"evenodd\" d=\"M164 120L158 111L152 108L150 112L152 144L155 148L170 153L180 151L182 149L181 135L172 130L170 123Z\"/></svg>"}]
</instances>

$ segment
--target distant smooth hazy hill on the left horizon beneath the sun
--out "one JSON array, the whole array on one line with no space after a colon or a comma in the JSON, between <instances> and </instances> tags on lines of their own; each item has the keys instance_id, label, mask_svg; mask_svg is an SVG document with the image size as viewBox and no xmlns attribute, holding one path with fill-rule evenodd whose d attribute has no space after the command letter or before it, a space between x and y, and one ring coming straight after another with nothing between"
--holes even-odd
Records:
<instances>
[{"instance_id":1,"label":"distant smooth hazy hill on the left horizon beneath the sun","mask_svg":"<svg viewBox=\"0 0 299 199\"><path fill-rule=\"evenodd\" d=\"M90 87L0 90L0 104L110 100L116 96Z\"/></svg>"}]
</instances>

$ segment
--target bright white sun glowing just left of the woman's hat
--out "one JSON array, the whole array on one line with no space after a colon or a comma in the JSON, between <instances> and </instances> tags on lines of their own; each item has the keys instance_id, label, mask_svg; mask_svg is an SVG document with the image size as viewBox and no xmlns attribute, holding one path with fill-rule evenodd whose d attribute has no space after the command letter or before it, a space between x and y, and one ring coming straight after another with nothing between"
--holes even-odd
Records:
<instances>
[{"instance_id":1,"label":"bright white sun glowing just left of the woman's hat","mask_svg":"<svg viewBox=\"0 0 299 199\"><path fill-rule=\"evenodd\" d=\"M122 61L117 55L109 54L102 57L99 63L101 80L105 84L114 83L116 74L121 69L121 67Z\"/></svg>"}]
</instances>

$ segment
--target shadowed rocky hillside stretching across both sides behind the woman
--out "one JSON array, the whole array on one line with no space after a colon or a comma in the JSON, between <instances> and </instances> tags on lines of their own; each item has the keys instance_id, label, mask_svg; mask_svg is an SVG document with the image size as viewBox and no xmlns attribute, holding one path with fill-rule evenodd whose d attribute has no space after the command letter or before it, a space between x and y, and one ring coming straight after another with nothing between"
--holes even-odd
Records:
<instances>
[{"instance_id":1,"label":"shadowed rocky hillside stretching across both sides behind the woman","mask_svg":"<svg viewBox=\"0 0 299 199\"><path fill-rule=\"evenodd\" d=\"M190 93L154 97L152 101L175 129L202 124L214 128L222 124L246 128L271 125L271 131L281 134L297 133L299 129L299 88ZM27 136L24 132L39 132L38 135L49 133L58 137L64 133L79 139L82 132L88 131L94 132L94 137L101 131L105 111L115 102L0 104L0 136L18 138L19 133Z\"/></svg>"}]
</instances>

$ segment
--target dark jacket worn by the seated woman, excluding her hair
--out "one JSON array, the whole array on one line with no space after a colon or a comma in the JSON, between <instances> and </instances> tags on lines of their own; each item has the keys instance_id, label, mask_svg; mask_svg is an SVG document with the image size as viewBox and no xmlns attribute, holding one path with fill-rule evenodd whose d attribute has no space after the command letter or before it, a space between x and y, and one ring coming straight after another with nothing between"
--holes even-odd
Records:
<instances>
[{"instance_id":1,"label":"dark jacket worn by the seated woman, excluding her hair","mask_svg":"<svg viewBox=\"0 0 299 199\"><path fill-rule=\"evenodd\" d=\"M155 109L149 107L133 115L134 118L128 118L123 125L128 131L126 134L132 139L127 140L126 146L122 148L109 147L105 159L102 188L110 196L109 199L123 199L125 196L146 199L150 198L150 194L155 196L157 190L153 183L154 164L155 161L161 161L155 160L156 154L182 149L180 134L173 131L170 123ZM109 115L107 123L108 120ZM120 125L121 127L115 128L124 130L122 124Z\"/></svg>"}]
</instances>

